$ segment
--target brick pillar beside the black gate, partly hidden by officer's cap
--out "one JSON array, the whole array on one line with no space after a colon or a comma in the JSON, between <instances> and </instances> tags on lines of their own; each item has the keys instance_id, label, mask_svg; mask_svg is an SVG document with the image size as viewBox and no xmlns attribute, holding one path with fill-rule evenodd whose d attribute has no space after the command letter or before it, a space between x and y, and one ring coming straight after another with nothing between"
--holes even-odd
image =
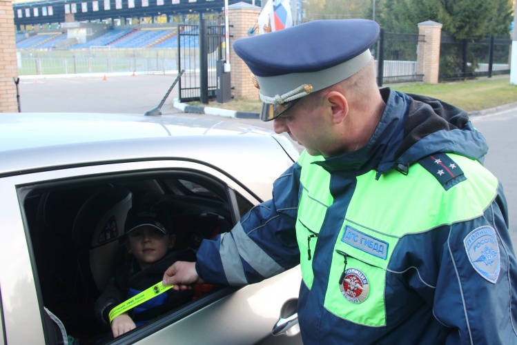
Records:
<instances>
[{"instance_id":1,"label":"brick pillar beside the black gate, partly hidden by officer's cap","mask_svg":"<svg viewBox=\"0 0 517 345\"><path fill-rule=\"evenodd\" d=\"M231 44L236 39L248 37L248 30L257 24L259 14L260 7L249 3L240 2L228 6ZM253 81L251 81L251 70L240 57L237 57L233 51L233 46L230 49L230 63L233 96L235 98L259 99L258 89L253 86Z\"/></svg>"}]
</instances>

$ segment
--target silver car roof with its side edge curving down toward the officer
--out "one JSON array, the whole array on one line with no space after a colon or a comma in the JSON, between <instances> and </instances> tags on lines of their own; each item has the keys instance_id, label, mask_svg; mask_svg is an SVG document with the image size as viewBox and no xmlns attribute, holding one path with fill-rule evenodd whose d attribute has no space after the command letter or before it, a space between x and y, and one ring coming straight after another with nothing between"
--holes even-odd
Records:
<instances>
[{"instance_id":1,"label":"silver car roof with its side edge curving down toward the officer","mask_svg":"<svg viewBox=\"0 0 517 345\"><path fill-rule=\"evenodd\" d=\"M280 175L297 159L297 150L271 130L222 119L97 113L0 115L0 177L64 166L167 158L202 161L245 180L245 171Z\"/></svg>"}]
</instances>

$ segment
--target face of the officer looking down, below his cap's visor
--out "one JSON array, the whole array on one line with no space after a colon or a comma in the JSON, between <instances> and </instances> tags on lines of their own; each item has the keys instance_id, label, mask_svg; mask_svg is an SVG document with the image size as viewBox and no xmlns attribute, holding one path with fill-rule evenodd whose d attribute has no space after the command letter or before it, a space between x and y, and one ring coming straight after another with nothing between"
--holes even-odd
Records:
<instances>
[{"instance_id":1,"label":"face of the officer looking down, below his cap's visor","mask_svg":"<svg viewBox=\"0 0 517 345\"><path fill-rule=\"evenodd\" d=\"M328 112L320 93L306 96L275 118L273 129L278 134L286 132L293 141L304 146L309 155L330 156L336 138Z\"/></svg>"}]
</instances>

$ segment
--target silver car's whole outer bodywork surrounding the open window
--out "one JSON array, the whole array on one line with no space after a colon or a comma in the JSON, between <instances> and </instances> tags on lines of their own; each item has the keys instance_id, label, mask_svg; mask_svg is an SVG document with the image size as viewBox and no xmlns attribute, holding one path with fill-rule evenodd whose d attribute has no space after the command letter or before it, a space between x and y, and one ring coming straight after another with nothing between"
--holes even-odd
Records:
<instances>
[{"instance_id":1,"label":"silver car's whole outer bodywork surrounding the open window","mask_svg":"<svg viewBox=\"0 0 517 345\"><path fill-rule=\"evenodd\" d=\"M31 241L22 204L23 197L35 186L117 174L184 170L209 175L257 204L271 197L274 179L289 168L297 156L297 150L285 137L245 126L229 129L231 126L220 121L195 124L193 119L148 119L139 115L95 115L95 121L83 121L82 118L91 115L81 114L70 115L61 123L67 116L0 117L0 161L3 162L0 165L0 228L5 239L0 242L0 292L3 334L8 344L45 342L37 270L32 266ZM133 117L137 121L128 121ZM188 127L182 130L178 121L188 122ZM8 129L3 127L9 122ZM99 132L88 135L88 132L96 132L97 126L101 128ZM215 130L217 126L228 128ZM62 135L76 127L76 135ZM202 135L187 135L188 128ZM137 133L130 134L132 130ZM173 131L183 136L164 134ZM134 337L142 344L159 344L168 341L166 339L175 339L177 344L268 343L283 301L297 298L299 285L297 267L240 288L172 324L167 318L151 322L119 342L127 343ZM196 332L199 323L211 333L222 328L228 330L218 333L216 339L210 333ZM188 332L182 334L184 329ZM299 333L291 333L274 340L299 342Z\"/></svg>"}]
</instances>

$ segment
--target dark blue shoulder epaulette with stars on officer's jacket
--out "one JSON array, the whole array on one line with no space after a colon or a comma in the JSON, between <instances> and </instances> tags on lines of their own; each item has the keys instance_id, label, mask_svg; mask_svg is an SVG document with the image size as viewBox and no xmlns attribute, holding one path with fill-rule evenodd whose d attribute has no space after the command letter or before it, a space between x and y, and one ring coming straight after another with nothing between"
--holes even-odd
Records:
<instances>
[{"instance_id":1,"label":"dark blue shoulder epaulette with stars on officer's jacket","mask_svg":"<svg viewBox=\"0 0 517 345\"><path fill-rule=\"evenodd\" d=\"M435 153L420 159L418 163L438 179L445 190L465 181L463 170L445 153Z\"/></svg>"}]
</instances>

